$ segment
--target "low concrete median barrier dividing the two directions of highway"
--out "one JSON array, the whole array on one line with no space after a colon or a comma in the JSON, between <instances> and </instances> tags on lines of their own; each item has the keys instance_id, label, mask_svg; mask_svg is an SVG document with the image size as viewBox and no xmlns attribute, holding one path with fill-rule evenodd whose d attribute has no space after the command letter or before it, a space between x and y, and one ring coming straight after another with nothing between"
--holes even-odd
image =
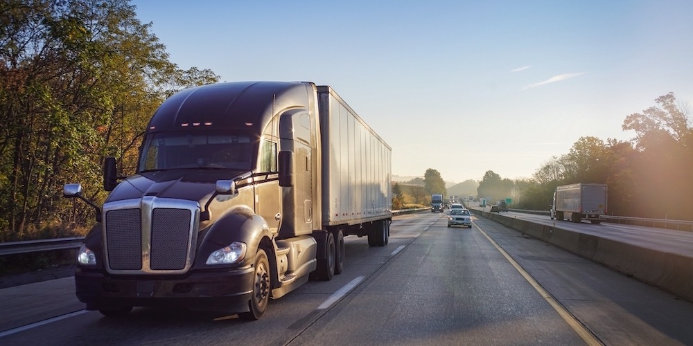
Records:
<instances>
[{"instance_id":1,"label":"low concrete median barrier dividing the two directions of highway","mask_svg":"<svg viewBox=\"0 0 693 346\"><path fill-rule=\"evenodd\" d=\"M523 234L563 248L588 260L604 264L629 277L658 286L693 302L693 258L606 239L597 235L535 224L531 221L471 210Z\"/></svg>"}]
</instances>

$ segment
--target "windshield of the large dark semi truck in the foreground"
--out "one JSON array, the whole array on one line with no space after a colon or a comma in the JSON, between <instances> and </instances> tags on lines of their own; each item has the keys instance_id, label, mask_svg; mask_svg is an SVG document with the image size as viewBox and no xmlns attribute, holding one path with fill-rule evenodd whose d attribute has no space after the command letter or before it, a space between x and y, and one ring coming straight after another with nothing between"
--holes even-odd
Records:
<instances>
[{"instance_id":1,"label":"windshield of the large dark semi truck in the foreground","mask_svg":"<svg viewBox=\"0 0 693 346\"><path fill-rule=\"evenodd\" d=\"M180 168L250 170L251 150L248 136L184 132L148 134L137 171Z\"/></svg>"}]
</instances>

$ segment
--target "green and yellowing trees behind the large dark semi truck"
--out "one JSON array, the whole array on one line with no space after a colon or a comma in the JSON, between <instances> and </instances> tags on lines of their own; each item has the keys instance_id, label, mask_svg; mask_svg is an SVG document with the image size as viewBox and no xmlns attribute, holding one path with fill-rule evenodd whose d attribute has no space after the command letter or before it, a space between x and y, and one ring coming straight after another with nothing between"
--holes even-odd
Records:
<instances>
[{"instance_id":1,"label":"green and yellowing trees behind the large dark semi truck","mask_svg":"<svg viewBox=\"0 0 693 346\"><path fill-rule=\"evenodd\" d=\"M127 0L0 3L0 241L91 221L89 207L61 198L62 185L82 181L103 200L103 158L132 169L164 98L218 81L169 62L150 26Z\"/></svg>"}]
</instances>

